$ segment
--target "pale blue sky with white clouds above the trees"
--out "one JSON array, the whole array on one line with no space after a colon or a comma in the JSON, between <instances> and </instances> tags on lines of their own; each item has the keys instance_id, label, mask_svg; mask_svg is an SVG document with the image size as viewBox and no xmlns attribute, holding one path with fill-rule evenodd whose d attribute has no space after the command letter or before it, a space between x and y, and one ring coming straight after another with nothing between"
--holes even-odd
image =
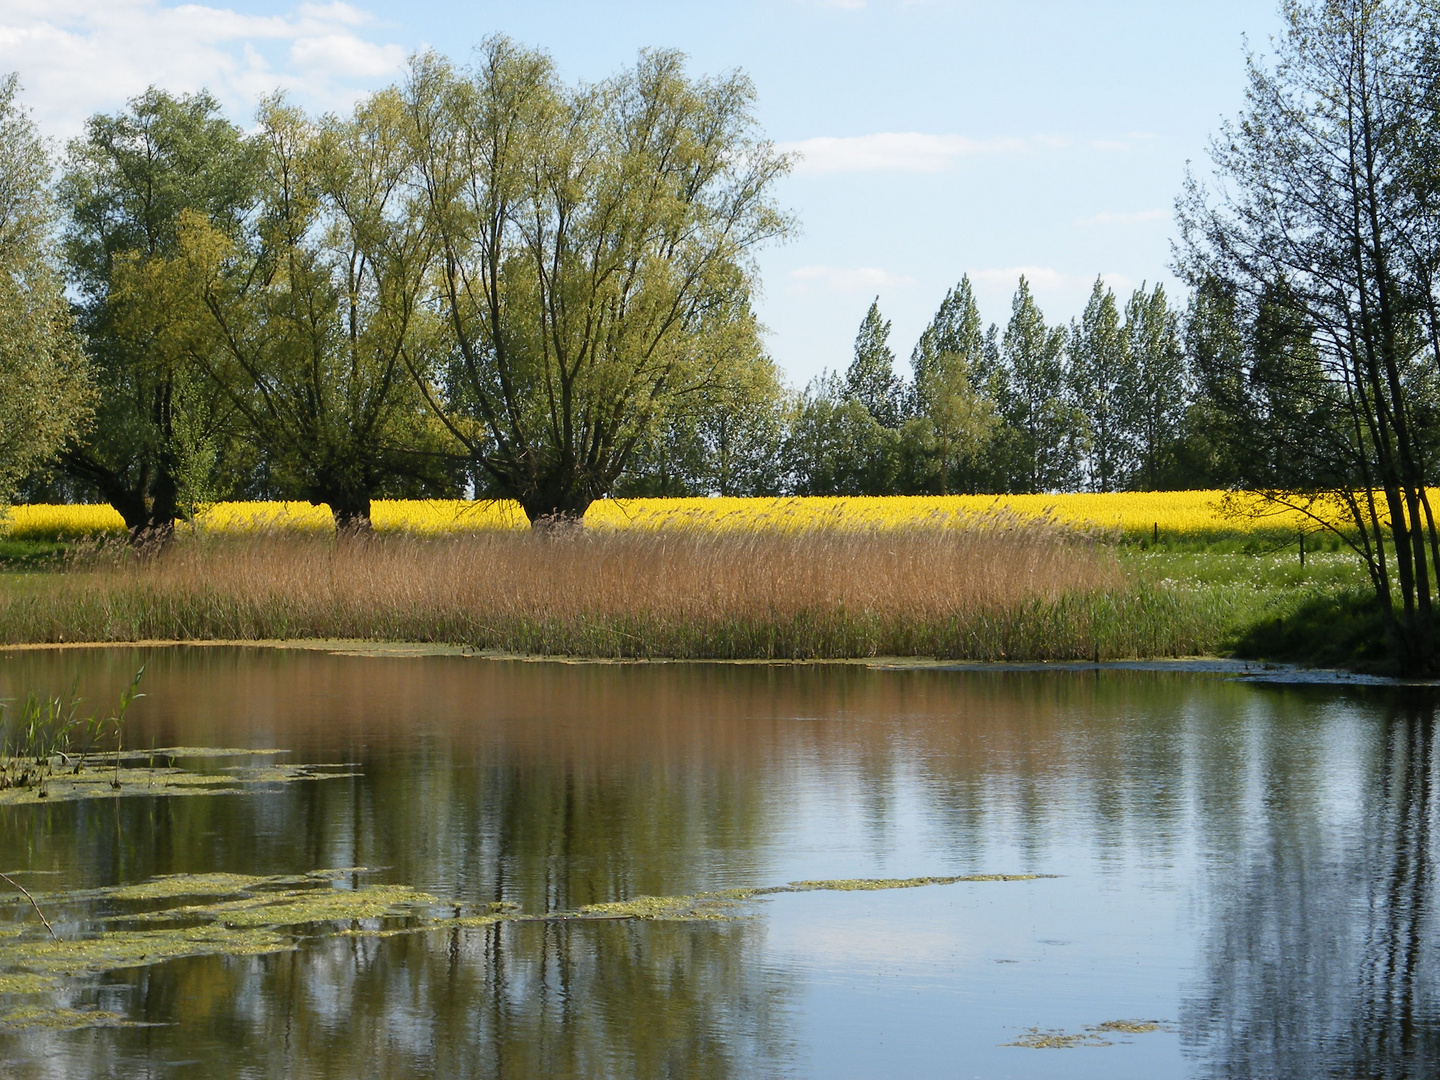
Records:
<instances>
[{"instance_id":1,"label":"pale blue sky with white clouds above the trees","mask_svg":"<svg viewBox=\"0 0 1440 1080\"><path fill-rule=\"evenodd\" d=\"M0 0L0 71L59 150L150 85L207 88L240 122L275 89L344 111L412 52L464 62L494 33L569 81L645 48L740 69L799 156L775 192L799 230L760 253L757 300L799 387L850 363L876 297L904 367L965 274L1002 327L1020 274L1051 321L1097 275L1122 301L1142 282L1182 301L1175 196L1277 27L1274 0Z\"/></svg>"}]
</instances>

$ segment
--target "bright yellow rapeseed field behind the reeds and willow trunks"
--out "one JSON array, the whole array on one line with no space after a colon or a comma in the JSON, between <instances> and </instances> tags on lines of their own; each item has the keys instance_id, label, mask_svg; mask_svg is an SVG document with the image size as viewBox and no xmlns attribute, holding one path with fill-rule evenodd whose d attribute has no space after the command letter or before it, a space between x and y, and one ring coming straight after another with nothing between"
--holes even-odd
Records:
<instances>
[{"instance_id":1,"label":"bright yellow rapeseed field behind the reeds and willow trunks","mask_svg":"<svg viewBox=\"0 0 1440 1080\"><path fill-rule=\"evenodd\" d=\"M894 495L815 498L615 498L592 504L588 526L600 528L808 530L950 526L976 516L1012 513L1128 536L1159 530L1166 537L1274 533L1306 527L1293 511L1225 513L1223 491L1158 491L1068 495ZM439 534L524 528L517 503L464 500L377 500L379 531ZM324 531L328 508L310 503L217 503L196 517L199 531ZM12 507L0 533L14 539L78 539L121 534L108 505Z\"/></svg>"}]
</instances>

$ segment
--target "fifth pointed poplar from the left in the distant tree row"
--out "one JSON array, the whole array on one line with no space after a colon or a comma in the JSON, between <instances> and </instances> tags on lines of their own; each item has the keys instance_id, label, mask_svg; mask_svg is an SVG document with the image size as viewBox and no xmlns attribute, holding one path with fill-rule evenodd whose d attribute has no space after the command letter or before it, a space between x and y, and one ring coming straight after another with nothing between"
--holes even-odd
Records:
<instances>
[{"instance_id":1,"label":"fifth pointed poplar from the left in the distant tree row","mask_svg":"<svg viewBox=\"0 0 1440 1080\"><path fill-rule=\"evenodd\" d=\"M1169 308L1165 289L1142 285L1125 304L1125 351L1129 356L1129 397L1122 408L1135 446L1130 487L1158 491L1172 472L1181 420L1189 397L1179 315Z\"/></svg>"}]
</instances>

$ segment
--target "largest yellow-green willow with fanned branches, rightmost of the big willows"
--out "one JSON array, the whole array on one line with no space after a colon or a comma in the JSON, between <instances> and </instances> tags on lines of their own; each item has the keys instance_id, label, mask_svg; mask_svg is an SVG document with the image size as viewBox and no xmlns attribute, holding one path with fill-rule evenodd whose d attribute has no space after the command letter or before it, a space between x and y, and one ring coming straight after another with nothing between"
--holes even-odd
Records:
<instances>
[{"instance_id":1,"label":"largest yellow-green willow with fanned branches, rightmost of the big willows","mask_svg":"<svg viewBox=\"0 0 1440 1080\"><path fill-rule=\"evenodd\" d=\"M435 55L405 86L438 248L449 363L432 409L531 521L580 517L645 433L757 350L753 252L783 236L786 158L740 75L674 52L564 86L503 37L471 71Z\"/></svg>"}]
</instances>

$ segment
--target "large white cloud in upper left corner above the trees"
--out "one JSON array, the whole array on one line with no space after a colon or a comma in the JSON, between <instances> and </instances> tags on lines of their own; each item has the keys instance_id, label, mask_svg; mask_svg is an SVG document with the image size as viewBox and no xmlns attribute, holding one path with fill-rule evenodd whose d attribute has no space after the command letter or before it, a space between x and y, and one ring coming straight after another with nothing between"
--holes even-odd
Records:
<instances>
[{"instance_id":1,"label":"large white cloud in upper left corner above the trees","mask_svg":"<svg viewBox=\"0 0 1440 1080\"><path fill-rule=\"evenodd\" d=\"M55 135L151 85L207 88L238 121L274 89L346 108L405 59L399 45L367 35L372 22L346 3L256 16L160 0L0 0L0 71L20 73L24 101Z\"/></svg>"}]
</instances>

